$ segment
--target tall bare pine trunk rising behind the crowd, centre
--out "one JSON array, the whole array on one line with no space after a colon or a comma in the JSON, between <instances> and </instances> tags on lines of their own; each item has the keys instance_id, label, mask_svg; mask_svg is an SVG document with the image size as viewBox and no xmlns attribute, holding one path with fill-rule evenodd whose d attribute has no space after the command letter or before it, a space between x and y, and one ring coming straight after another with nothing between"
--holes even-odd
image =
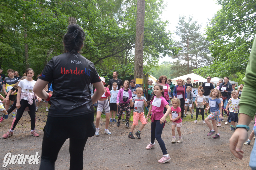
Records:
<instances>
[{"instance_id":1,"label":"tall bare pine trunk rising behind the crowd, centre","mask_svg":"<svg viewBox=\"0 0 256 170\"><path fill-rule=\"evenodd\" d=\"M136 39L134 57L134 79L143 78L145 0L137 1Z\"/></svg>"}]
</instances>

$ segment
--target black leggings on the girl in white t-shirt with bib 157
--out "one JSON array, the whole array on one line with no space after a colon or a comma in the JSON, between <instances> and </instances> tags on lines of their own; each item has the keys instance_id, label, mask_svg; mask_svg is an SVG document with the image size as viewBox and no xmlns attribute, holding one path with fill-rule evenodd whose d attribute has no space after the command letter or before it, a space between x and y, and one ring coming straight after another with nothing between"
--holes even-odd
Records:
<instances>
[{"instance_id":1,"label":"black leggings on the girl in white t-shirt with bib 157","mask_svg":"<svg viewBox=\"0 0 256 170\"><path fill-rule=\"evenodd\" d=\"M28 107L29 111L30 111L29 116L30 116L30 120L31 120L31 130L35 130L35 124L36 124L36 101L35 101L35 99L33 99L32 105L28 104L27 100L22 99L20 101L20 108L17 110L16 120L13 124L12 130L14 130L15 126L18 124L26 107Z\"/></svg>"}]
</instances>

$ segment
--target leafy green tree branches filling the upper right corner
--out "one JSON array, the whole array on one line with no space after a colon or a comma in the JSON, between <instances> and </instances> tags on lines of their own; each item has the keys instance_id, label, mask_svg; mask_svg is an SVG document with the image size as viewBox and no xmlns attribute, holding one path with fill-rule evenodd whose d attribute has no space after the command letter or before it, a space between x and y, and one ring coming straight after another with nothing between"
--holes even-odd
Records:
<instances>
[{"instance_id":1,"label":"leafy green tree branches filling the upper right corner","mask_svg":"<svg viewBox=\"0 0 256 170\"><path fill-rule=\"evenodd\" d=\"M256 1L218 0L218 4L222 8L206 33L213 64L193 71L201 76L243 75L256 34Z\"/></svg>"}]
</instances>

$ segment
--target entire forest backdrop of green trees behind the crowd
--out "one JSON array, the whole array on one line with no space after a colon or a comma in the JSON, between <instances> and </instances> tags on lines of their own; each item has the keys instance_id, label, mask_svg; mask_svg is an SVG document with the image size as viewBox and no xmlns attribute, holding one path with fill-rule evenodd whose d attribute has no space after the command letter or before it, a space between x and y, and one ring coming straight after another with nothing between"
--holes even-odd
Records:
<instances>
[{"instance_id":1,"label":"entire forest backdrop of green trees behind the crowd","mask_svg":"<svg viewBox=\"0 0 256 170\"><path fill-rule=\"evenodd\" d=\"M242 83L256 33L256 1L218 0L222 8L208 20L207 32L193 16L180 16L174 32L162 20L163 0L145 3L144 73L175 78L229 76ZM113 71L122 80L134 74L136 0L3 0L0 2L0 68L40 74L51 57L64 53L68 17L86 32L81 54L106 82ZM159 58L170 56L174 62ZM22 74L20 74L22 75Z\"/></svg>"}]
</instances>

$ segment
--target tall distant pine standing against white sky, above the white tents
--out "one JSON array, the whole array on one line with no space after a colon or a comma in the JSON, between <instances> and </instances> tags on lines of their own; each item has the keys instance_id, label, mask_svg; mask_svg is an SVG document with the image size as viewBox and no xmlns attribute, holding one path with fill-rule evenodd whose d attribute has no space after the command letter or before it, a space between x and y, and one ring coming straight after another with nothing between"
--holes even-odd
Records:
<instances>
[{"instance_id":1,"label":"tall distant pine standing against white sky, above the white tents","mask_svg":"<svg viewBox=\"0 0 256 170\"><path fill-rule=\"evenodd\" d=\"M175 32L180 36L181 40L176 41L176 45L180 50L179 53L172 57L177 59L173 63L173 69L179 70L174 75L189 74L195 68L210 64L210 57L207 55L208 43L198 32L201 26L197 24L197 21L193 21L192 16L188 18L180 16L176 28Z\"/></svg>"}]
</instances>

